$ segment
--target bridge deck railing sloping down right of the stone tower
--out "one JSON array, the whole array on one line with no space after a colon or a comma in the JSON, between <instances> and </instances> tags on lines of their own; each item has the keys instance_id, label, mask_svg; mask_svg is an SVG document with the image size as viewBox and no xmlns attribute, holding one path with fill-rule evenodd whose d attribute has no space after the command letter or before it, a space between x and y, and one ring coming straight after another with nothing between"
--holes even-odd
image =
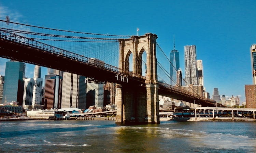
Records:
<instances>
[{"instance_id":1,"label":"bridge deck railing sloping down right of the stone tower","mask_svg":"<svg viewBox=\"0 0 256 153\"><path fill-rule=\"evenodd\" d=\"M199 95L194 94L192 92L189 92L189 91L187 91L185 89L182 89L182 87L176 87L176 86L173 86L173 85L170 85L170 84L167 84L167 83L161 83L161 82L159 82L159 85L162 86L162 87L165 87L167 89L171 89L171 90L180 92L180 93L185 94L185 95L190 96L190 97L193 96L193 97L195 97L197 99L200 99L200 100L205 100L205 101L209 101L209 102L215 103L215 101L212 100L212 99L199 96Z\"/></svg>"}]
</instances>

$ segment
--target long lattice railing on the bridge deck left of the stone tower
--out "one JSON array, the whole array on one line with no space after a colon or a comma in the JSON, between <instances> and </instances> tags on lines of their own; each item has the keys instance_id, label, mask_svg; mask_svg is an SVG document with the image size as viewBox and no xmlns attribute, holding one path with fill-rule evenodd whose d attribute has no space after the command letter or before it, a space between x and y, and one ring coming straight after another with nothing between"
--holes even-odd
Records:
<instances>
[{"instance_id":1,"label":"long lattice railing on the bridge deck left of the stone tower","mask_svg":"<svg viewBox=\"0 0 256 153\"><path fill-rule=\"evenodd\" d=\"M117 68L116 66L106 64L103 61L99 61L94 58L88 58L83 55L79 55L79 54L76 54L76 53L73 53L73 52L70 52L67 50L63 50L58 47L48 45L48 44L30 39L30 38L26 38L24 36L16 35L14 33L10 33L10 32L4 31L4 30L0 30L0 37L4 38L6 40L17 42L19 44L33 47L35 49L40 49L40 50L46 51L48 53L53 53L57 56L62 56L65 58L76 60L78 62L83 62L85 64L95 66L97 68L105 69L105 70L114 72L116 74L122 75L122 76L126 76L126 77L130 76L133 78L145 79L144 76L141 76L139 74L135 74L135 73L132 73L129 71L125 71L123 69Z\"/></svg>"}]
</instances>

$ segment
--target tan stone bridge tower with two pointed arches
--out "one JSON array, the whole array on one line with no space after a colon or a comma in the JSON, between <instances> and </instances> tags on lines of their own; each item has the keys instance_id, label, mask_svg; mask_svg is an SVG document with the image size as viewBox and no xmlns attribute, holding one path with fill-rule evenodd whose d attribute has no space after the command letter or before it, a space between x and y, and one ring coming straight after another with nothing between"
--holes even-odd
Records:
<instances>
[{"instance_id":1,"label":"tan stone bridge tower with two pointed arches","mask_svg":"<svg viewBox=\"0 0 256 153\"><path fill-rule=\"evenodd\" d=\"M119 40L119 68L129 70L132 54L132 72L142 75L142 54L146 52L145 84L127 84L117 89L116 123L160 123L156 60L157 35L148 33Z\"/></svg>"}]
</instances>

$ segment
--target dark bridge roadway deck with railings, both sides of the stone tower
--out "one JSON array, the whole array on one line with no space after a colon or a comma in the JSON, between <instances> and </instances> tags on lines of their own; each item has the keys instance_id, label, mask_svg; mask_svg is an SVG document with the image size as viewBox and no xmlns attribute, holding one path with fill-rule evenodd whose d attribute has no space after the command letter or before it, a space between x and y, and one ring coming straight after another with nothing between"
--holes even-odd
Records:
<instances>
[{"instance_id":1,"label":"dark bridge roadway deck with railings, both sides of the stone tower","mask_svg":"<svg viewBox=\"0 0 256 153\"><path fill-rule=\"evenodd\" d=\"M144 76L4 30L0 30L0 57L95 78L99 82L114 82L124 88L145 90ZM159 83L158 94L202 106L215 103L214 100L166 83Z\"/></svg>"}]
</instances>

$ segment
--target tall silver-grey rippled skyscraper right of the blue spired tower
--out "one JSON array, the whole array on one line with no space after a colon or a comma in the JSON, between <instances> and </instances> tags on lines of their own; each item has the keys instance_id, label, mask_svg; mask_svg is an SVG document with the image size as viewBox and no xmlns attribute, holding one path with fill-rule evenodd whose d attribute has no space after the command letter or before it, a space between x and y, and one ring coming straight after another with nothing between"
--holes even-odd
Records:
<instances>
[{"instance_id":1,"label":"tall silver-grey rippled skyscraper right of the blue spired tower","mask_svg":"<svg viewBox=\"0 0 256 153\"><path fill-rule=\"evenodd\" d=\"M185 50L185 80L186 85L198 85L198 73L196 66L196 45L186 45Z\"/></svg>"}]
</instances>

